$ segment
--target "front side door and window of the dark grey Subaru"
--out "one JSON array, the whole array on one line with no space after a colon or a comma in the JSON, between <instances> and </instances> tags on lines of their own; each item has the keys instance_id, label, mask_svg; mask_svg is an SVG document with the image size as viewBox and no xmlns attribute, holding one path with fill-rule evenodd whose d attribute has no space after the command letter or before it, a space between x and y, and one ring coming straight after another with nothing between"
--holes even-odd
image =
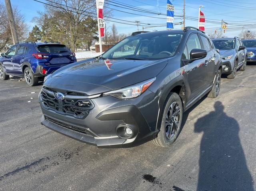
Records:
<instances>
[{"instance_id":1,"label":"front side door and window of the dark grey Subaru","mask_svg":"<svg viewBox=\"0 0 256 191\"><path fill-rule=\"evenodd\" d=\"M190 61L190 52L192 49L202 49L201 42L197 33L192 33L188 38L186 47L182 54L182 60L184 62L186 75L188 79L188 102L192 101L198 95L200 95L207 87L207 69L205 67L206 58Z\"/></svg>"}]
</instances>

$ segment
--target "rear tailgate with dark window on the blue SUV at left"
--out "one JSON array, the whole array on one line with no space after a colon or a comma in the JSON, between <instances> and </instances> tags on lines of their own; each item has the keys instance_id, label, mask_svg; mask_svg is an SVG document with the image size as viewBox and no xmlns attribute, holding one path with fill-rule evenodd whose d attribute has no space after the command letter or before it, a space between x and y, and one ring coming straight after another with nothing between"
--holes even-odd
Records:
<instances>
[{"instance_id":1,"label":"rear tailgate with dark window on the blue SUV at left","mask_svg":"<svg viewBox=\"0 0 256 191\"><path fill-rule=\"evenodd\" d=\"M39 53L48 56L47 64L63 65L74 63L74 55L65 45L61 44L45 44L36 47Z\"/></svg>"}]
</instances>

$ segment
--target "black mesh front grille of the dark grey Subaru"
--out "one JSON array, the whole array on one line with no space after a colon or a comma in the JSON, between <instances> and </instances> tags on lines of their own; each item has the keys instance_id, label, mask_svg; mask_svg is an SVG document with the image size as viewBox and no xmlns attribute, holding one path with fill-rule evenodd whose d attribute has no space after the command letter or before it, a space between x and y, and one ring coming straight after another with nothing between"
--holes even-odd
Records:
<instances>
[{"instance_id":1,"label":"black mesh front grille of the dark grey Subaru","mask_svg":"<svg viewBox=\"0 0 256 191\"><path fill-rule=\"evenodd\" d=\"M73 96L74 98L57 100L54 96L56 93L63 93L64 96ZM44 86L40 96L42 98L42 106L44 108L54 110L62 115L73 116L78 119L84 119L94 107L92 101L90 99L84 99L84 95L82 93L60 91Z\"/></svg>"}]
</instances>

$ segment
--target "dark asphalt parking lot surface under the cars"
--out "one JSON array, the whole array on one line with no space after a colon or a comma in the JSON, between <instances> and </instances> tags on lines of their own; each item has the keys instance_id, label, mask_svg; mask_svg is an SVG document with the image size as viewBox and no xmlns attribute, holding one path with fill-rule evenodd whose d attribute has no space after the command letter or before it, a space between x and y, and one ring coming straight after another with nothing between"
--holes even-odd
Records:
<instances>
[{"instance_id":1,"label":"dark asphalt parking lot surface under the cars","mask_svg":"<svg viewBox=\"0 0 256 191\"><path fill-rule=\"evenodd\" d=\"M0 81L0 190L256 190L256 65L184 113L170 148L100 149L40 125L42 85Z\"/></svg>"}]
</instances>

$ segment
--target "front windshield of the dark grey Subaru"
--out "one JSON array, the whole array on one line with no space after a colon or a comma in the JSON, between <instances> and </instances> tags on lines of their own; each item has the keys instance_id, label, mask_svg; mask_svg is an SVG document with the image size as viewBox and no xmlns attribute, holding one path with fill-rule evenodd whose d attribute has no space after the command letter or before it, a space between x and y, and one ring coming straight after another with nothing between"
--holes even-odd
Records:
<instances>
[{"instance_id":1,"label":"front windshield of the dark grey Subaru","mask_svg":"<svg viewBox=\"0 0 256 191\"><path fill-rule=\"evenodd\" d=\"M104 59L156 60L172 57L180 44L182 33L147 33L130 36L106 51Z\"/></svg>"}]
</instances>

